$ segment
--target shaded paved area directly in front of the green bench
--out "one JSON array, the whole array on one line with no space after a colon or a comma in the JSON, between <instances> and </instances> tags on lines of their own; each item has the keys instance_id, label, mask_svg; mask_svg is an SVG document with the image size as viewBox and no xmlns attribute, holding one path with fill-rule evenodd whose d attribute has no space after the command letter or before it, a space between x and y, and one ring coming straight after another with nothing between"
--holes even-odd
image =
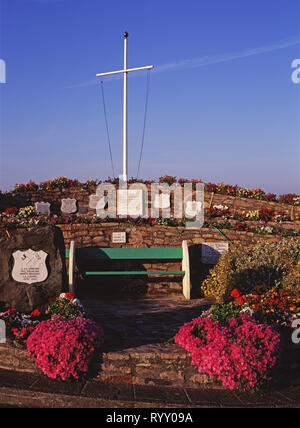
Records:
<instances>
[{"instance_id":1,"label":"shaded paved area directly in front of the green bench","mask_svg":"<svg viewBox=\"0 0 300 428\"><path fill-rule=\"evenodd\" d=\"M212 299L186 300L182 295L144 299L82 300L86 314L104 329L104 351L119 351L174 337L199 317Z\"/></svg>"}]
</instances>

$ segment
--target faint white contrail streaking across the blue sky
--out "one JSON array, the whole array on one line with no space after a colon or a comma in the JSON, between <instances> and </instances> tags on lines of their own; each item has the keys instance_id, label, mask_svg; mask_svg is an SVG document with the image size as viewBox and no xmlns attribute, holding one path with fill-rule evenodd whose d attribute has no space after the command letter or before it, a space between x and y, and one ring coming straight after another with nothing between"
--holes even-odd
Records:
<instances>
[{"instance_id":1,"label":"faint white contrail streaking across the blue sky","mask_svg":"<svg viewBox=\"0 0 300 428\"><path fill-rule=\"evenodd\" d=\"M300 45L300 37L290 39L290 40L280 41L280 42L274 43L272 45L260 46L258 48L248 49L248 50L234 52L234 53L229 53L229 54L225 54L225 55L210 55L210 56L204 56L204 57L200 57L200 58L185 59L182 61L177 61L177 62L173 62L173 63L169 63L169 64L162 64L162 65L155 66L153 73L163 73L166 71L185 70L188 68L199 68L199 67L204 67L206 65L219 64L222 62L233 61L235 59L247 58L247 57L251 57L251 56L255 56L255 55L261 55L264 53L274 52L274 51L278 51L280 49L284 49L284 48L288 48L288 47L296 46L296 45ZM118 75L118 76L110 77L108 80L109 81L118 80L121 78L122 77L120 75ZM96 85L97 83L99 83L99 80L92 79L92 80L88 80L86 82L71 85L71 86L69 86L69 88L80 88L80 87L85 87L85 86Z\"/></svg>"}]
</instances>

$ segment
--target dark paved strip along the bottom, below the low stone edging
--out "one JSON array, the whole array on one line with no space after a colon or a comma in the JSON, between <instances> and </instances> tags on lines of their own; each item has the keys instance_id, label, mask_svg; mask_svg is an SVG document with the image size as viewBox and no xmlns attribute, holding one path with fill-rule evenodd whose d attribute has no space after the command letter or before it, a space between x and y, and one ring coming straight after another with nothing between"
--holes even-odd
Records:
<instances>
[{"instance_id":1,"label":"dark paved strip along the bottom, below the low stone edging","mask_svg":"<svg viewBox=\"0 0 300 428\"><path fill-rule=\"evenodd\" d=\"M1 407L71 408L300 408L300 386L256 394L85 380L0 370Z\"/></svg>"}]
</instances>

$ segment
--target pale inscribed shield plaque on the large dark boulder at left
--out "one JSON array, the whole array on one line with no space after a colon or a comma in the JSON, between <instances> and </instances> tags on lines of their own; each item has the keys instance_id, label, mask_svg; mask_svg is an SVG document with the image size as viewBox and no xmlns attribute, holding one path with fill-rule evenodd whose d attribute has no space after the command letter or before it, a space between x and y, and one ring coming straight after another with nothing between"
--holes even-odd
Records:
<instances>
[{"instance_id":1,"label":"pale inscribed shield plaque on the large dark boulder at left","mask_svg":"<svg viewBox=\"0 0 300 428\"><path fill-rule=\"evenodd\" d=\"M48 269L45 251L15 251L13 254L14 266L12 277L16 282L35 284L48 278Z\"/></svg>"}]
</instances>

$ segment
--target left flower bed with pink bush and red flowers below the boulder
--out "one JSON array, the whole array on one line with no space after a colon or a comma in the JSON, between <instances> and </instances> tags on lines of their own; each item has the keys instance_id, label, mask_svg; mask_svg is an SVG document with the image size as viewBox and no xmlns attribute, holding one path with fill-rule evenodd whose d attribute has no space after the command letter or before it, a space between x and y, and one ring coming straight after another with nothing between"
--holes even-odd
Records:
<instances>
[{"instance_id":1,"label":"left flower bed with pink bush and red flowers below the boulder","mask_svg":"<svg viewBox=\"0 0 300 428\"><path fill-rule=\"evenodd\" d=\"M102 328L84 317L72 293L61 294L44 314L9 309L0 319L9 340L26 347L35 365L54 379L78 379L87 373L104 340Z\"/></svg>"}]
</instances>

